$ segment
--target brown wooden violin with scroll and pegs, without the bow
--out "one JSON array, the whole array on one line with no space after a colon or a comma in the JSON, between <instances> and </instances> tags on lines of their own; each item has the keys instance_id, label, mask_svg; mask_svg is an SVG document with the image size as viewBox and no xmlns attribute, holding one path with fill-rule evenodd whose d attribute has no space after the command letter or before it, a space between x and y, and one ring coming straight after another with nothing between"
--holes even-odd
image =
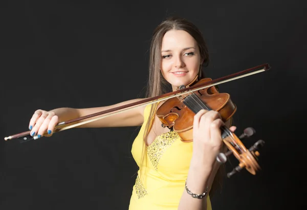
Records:
<instances>
[{"instance_id":1,"label":"brown wooden violin with scroll and pegs, without the bow","mask_svg":"<svg viewBox=\"0 0 307 210\"><path fill-rule=\"evenodd\" d=\"M210 80L211 78L204 78L196 82L196 84L207 83ZM179 89L184 88L185 86L179 87ZM167 99L157 109L156 114L162 122L162 127L173 129L173 131L180 136L181 141L191 142L193 141L193 117L202 109L217 111L220 113L224 122L229 120L236 112L236 106L230 99L230 95L228 93L219 93L216 88L212 86L186 94L184 97L181 95L179 97ZM227 176L231 177L244 167L248 172L255 175L256 171L260 169L256 161L259 152L255 150L259 145L263 146L265 142L259 140L250 150L247 150L240 141L240 138L231 132L225 125L220 129L222 139L228 147L229 152L226 154L218 154L216 160L220 163L225 163L227 161L227 156L233 154L240 162L231 173L227 174ZM255 130L253 128L247 128L242 137L250 137L254 133Z\"/></svg>"}]
</instances>

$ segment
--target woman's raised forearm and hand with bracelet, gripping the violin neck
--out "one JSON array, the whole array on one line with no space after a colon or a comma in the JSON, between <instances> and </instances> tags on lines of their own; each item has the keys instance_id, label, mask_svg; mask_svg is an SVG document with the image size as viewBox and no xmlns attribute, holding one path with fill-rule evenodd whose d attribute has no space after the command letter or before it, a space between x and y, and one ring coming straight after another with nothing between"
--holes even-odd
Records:
<instances>
[{"instance_id":1,"label":"woman's raised forearm and hand with bracelet, gripping the violin neck","mask_svg":"<svg viewBox=\"0 0 307 210\"><path fill-rule=\"evenodd\" d=\"M201 110L194 116L193 154L187 175L187 188L195 195L206 193L205 197L195 198L188 194L186 188L179 202L179 210L207 210L208 193L220 167L216 161L219 152L227 147L221 139L221 126L229 127L231 120L224 123L215 111ZM233 130L233 128L232 128Z\"/></svg>"}]
</instances>

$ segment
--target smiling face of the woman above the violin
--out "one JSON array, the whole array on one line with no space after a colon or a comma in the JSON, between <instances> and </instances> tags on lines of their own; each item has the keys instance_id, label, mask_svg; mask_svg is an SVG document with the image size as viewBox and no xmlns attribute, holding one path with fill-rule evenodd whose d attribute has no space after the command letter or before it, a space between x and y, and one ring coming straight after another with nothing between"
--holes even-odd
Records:
<instances>
[{"instance_id":1,"label":"smiling face of the woman above the violin","mask_svg":"<svg viewBox=\"0 0 307 210\"><path fill-rule=\"evenodd\" d=\"M165 33L161 46L161 72L172 85L173 91L188 85L198 75L202 64L195 39L186 31L171 30Z\"/></svg>"}]
</instances>

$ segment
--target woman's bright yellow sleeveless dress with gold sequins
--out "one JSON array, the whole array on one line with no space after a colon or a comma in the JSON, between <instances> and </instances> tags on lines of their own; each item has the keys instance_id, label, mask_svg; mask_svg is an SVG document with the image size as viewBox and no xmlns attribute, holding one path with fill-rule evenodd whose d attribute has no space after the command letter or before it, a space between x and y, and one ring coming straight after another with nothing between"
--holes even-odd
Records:
<instances>
[{"instance_id":1,"label":"woman's bright yellow sleeveless dress with gold sequins","mask_svg":"<svg viewBox=\"0 0 307 210\"><path fill-rule=\"evenodd\" d=\"M144 123L133 142L131 153L140 167L143 134L150 113L150 104L145 107ZM175 210L185 191L189 164L192 157L192 142L182 142L178 134L170 131L156 137L145 149L146 158L142 168L142 181L138 171L129 210ZM147 162L147 163L146 163ZM207 209L211 202L207 197Z\"/></svg>"}]
</instances>

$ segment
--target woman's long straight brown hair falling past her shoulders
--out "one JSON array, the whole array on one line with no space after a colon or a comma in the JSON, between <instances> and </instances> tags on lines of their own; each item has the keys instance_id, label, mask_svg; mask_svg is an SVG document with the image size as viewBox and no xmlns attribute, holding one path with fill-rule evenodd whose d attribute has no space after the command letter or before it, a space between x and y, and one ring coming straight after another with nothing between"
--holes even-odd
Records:
<instances>
[{"instance_id":1,"label":"woman's long straight brown hair falling past her shoulders","mask_svg":"<svg viewBox=\"0 0 307 210\"><path fill-rule=\"evenodd\" d=\"M162 39L164 34L167 31L170 30L184 30L188 32L198 43L198 47L201 54L201 59L203 60L203 63L201 64L200 68L200 79L205 78L205 74L203 73L202 67L208 66L209 63L209 55L208 55L208 49L206 42L204 40L204 37L202 35L202 32L191 22L184 18L179 17L169 17L166 20L164 20L154 31L151 38L151 44L150 44L150 55L149 55L149 77L147 80L147 97L155 97L162 94L165 94L170 89L170 84L164 79L161 70L160 70L160 62L161 62L161 45L162 45ZM153 124L153 120L155 119L155 113L157 110L158 104L153 104L151 106L150 114L148 121L146 123L145 132L144 132L144 142L143 144L145 147L143 147L143 151L146 148L147 145L147 135L151 129L151 126ZM142 160L144 161L144 153L142 152ZM141 164L142 165L142 164ZM211 190L210 190L210 196L212 196L212 193L216 190L218 187L218 184L222 184L222 167L218 170Z\"/></svg>"}]
</instances>

